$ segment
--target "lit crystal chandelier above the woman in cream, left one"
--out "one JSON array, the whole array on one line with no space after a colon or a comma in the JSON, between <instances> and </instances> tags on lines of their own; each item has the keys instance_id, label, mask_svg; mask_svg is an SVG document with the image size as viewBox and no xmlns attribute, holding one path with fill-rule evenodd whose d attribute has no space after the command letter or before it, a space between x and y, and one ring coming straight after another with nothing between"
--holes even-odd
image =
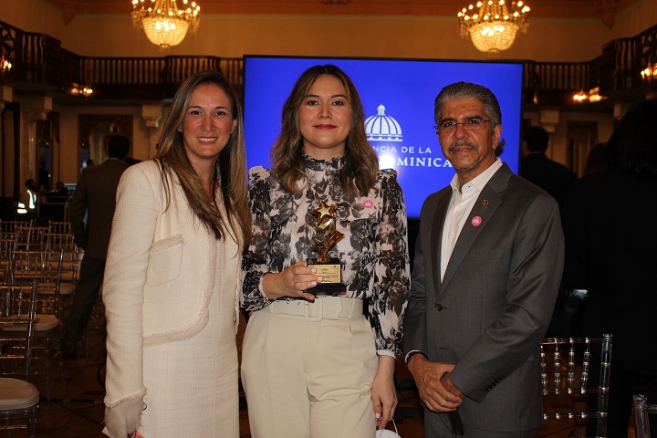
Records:
<instances>
[{"instance_id":1,"label":"lit crystal chandelier above the woman in cream, left one","mask_svg":"<svg viewBox=\"0 0 657 438\"><path fill-rule=\"evenodd\" d=\"M201 6L183 0L179 9L176 0L132 0L132 26L143 27L149 41L162 50L183 42L187 30L196 31Z\"/></svg>"}]
</instances>

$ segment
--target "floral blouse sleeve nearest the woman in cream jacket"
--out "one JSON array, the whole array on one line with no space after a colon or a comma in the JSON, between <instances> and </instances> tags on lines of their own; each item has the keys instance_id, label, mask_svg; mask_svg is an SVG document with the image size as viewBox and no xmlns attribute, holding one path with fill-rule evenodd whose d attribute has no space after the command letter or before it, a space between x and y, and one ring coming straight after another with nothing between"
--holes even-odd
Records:
<instances>
[{"instance_id":1,"label":"floral blouse sleeve nearest the woman in cream jacket","mask_svg":"<svg viewBox=\"0 0 657 438\"><path fill-rule=\"evenodd\" d=\"M251 208L251 245L242 258L243 287L240 304L245 311L258 310L270 300L262 290L262 278L270 271L266 264L266 250L271 235L271 176L263 167L249 172L249 207Z\"/></svg>"}]
</instances>

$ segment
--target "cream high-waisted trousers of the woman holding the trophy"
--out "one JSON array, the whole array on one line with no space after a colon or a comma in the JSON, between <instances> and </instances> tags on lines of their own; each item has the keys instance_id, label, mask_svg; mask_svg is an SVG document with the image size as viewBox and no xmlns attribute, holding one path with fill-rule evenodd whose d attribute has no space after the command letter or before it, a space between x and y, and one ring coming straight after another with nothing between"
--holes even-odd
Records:
<instances>
[{"instance_id":1,"label":"cream high-waisted trousers of the woman holding the trophy","mask_svg":"<svg viewBox=\"0 0 657 438\"><path fill-rule=\"evenodd\" d=\"M367 438L378 358L362 300L275 301L249 318L242 383L253 438Z\"/></svg>"}]
</instances>

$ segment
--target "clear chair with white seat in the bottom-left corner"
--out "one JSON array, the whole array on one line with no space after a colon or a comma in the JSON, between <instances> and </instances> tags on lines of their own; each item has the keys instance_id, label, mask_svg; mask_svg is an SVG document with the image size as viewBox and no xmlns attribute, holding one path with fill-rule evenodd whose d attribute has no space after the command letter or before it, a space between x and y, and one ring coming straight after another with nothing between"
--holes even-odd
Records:
<instances>
[{"instance_id":1,"label":"clear chair with white seat in the bottom-left corner","mask_svg":"<svg viewBox=\"0 0 657 438\"><path fill-rule=\"evenodd\" d=\"M0 430L26 429L29 437L36 436L39 410L39 392L28 382L36 304L36 282L0 285Z\"/></svg>"}]
</instances>

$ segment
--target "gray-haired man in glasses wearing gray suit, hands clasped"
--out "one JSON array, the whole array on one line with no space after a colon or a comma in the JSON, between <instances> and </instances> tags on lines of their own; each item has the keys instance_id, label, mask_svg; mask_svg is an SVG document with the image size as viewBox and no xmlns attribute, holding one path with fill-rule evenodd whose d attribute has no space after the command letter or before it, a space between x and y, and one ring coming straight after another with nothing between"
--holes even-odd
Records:
<instances>
[{"instance_id":1,"label":"gray-haired man in glasses wearing gray suit, hands clasped","mask_svg":"<svg viewBox=\"0 0 657 438\"><path fill-rule=\"evenodd\" d=\"M426 436L530 438L563 268L558 205L497 158L502 114L489 89L449 85L434 116L456 174L422 206L404 322Z\"/></svg>"}]
</instances>

